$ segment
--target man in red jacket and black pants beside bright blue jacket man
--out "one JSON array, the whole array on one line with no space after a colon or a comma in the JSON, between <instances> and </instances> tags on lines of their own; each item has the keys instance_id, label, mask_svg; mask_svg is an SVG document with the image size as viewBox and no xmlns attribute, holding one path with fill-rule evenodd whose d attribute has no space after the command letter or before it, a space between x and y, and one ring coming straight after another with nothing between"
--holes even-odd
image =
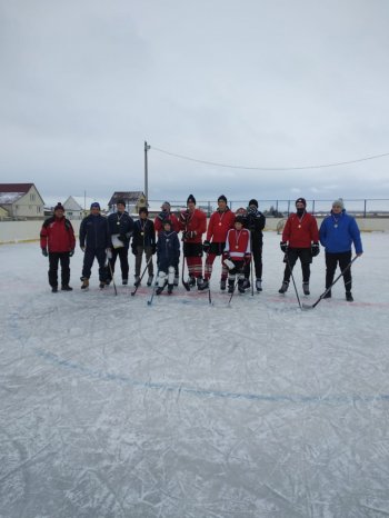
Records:
<instances>
[{"instance_id":1,"label":"man in red jacket and black pants beside bright blue jacket man","mask_svg":"<svg viewBox=\"0 0 389 518\"><path fill-rule=\"evenodd\" d=\"M298 198L296 200L296 213L289 216L283 228L280 248L285 253L283 262L286 262L286 267L282 286L278 290L280 293L288 290L293 266L297 259L300 259L302 290L305 295L309 295L310 263L312 257L319 253L320 247L318 223L316 218L307 212L306 207L307 201L305 198Z\"/></svg>"}]
</instances>

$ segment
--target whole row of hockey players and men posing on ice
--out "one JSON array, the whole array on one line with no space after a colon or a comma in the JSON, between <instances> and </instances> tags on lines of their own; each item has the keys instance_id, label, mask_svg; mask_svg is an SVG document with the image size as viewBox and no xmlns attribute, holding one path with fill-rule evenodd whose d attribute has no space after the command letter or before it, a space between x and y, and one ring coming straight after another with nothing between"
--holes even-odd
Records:
<instances>
[{"instance_id":1,"label":"whole row of hockey players and men posing on ice","mask_svg":"<svg viewBox=\"0 0 389 518\"><path fill-rule=\"evenodd\" d=\"M156 293L160 295L167 287L171 293L179 283L179 262L181 246L184 261L181 268L188 268L188 280L182 282L187 289L208 290L216 258L221 257L220 289L232 293L236 287L245 293L250 287L250 276L255 273L255 287L262 291L262 248L266 218L258 209L258 201L251 199L247 208L236 212L228 207L226 196L218 198L218 208L211 215L208 226L206 213L198 209L196 199L190 195L187 209L178 216L171 212L166 201L161 212L152 221L147 207L139 209L139 218L133 221L126 211L126 201L117 201L117 210L107 218L101 215L100 206L93 202L90 213L80 226L80 248L83 251L81 289L89 287L91 268L97 259L99 263L99 282L103 289L113 279L119 257L123 285L129 281L128 253L134 255L134 286L138 287L142 276L148 272L147 285L154 280L153 256L157 255ZM205 237L205 240L203 240ZM296 200L296 212L291 213L285 225L280 248L286 263L280 293L288 290L290 277L297 260L302 269L302 289L309 295L310 263L320 252L320 243L326 251L326 298L331 297L330 287L339 265L343 272L346 299L352 301L351 293L351 247L357 256L362 255L360 231L355 218L346 212L343 201L333 201L330 213L323 219L320 230L316 218L307 212L307 201ZM49 285L53 292L58 287L58 269L61 265L61 290L70 291L70 257L74 253L76 238L72 225L64 217L61 203L54 207L54 215L47 219L40 233L43 256L49 257ZM203 265L203 255L206 255ZM142 258L146 267L141 273ZM253 289L253 287L252 287Z\"/></svg>"}]
</instances>

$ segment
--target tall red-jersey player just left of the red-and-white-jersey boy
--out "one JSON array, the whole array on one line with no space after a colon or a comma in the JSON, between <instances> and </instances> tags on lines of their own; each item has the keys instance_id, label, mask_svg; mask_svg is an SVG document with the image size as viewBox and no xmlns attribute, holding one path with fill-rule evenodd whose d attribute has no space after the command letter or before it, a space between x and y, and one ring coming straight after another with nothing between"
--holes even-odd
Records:
<instances>
[{"instance_id":1,"label":"tall red-jersey player just left of the red-and-white-jersey boy","mask_svg":"<svg viewBox=\"0 0 389 518\"><path fill-rule=\"evenodd\" d=\"M212 213L207 230L207 239L202 245L203 251L207 253L205 265L205 281L199 287L200 290L209 288L209 280L212 275L212 265L217 256L222 256L226 247L227 232L233 228L235 213L227 206L225 195L218 198L218 209ZM228 268L225 262L221 262L221 279L220 289L226 289Z\"/></svg>"}]
</instances>

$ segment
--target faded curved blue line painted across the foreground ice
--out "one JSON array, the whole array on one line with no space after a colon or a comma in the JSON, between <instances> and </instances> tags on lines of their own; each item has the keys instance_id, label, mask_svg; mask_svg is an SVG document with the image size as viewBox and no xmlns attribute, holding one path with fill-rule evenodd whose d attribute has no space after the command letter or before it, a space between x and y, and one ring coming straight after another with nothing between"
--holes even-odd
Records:
<instances>
[{"instance_id":1,"label":"faded curved blue line painted across the foreground ice","mask_svg":"<svg viewBox=\"0 0 389 518\"><path fill-rule=\"evenodd\" d=\"M70 361L63 358L60 358L52 352L36 349L36 352L39 357L43 358L44 360L49 361L50 363L60 366L62 368L74 370L81 372L83 375L90 376L92 378L102 379L106 381L119 381L131 387L140 387L146 389L156 389L156 390L168 390L171 392L184 392L184 394L192 394L196 396L201 397L213 397L213 398L226 398L226 399L243 399L243 400L251 400L251 401L272 401L272 402L295 402L295 404L349 404L349 402L375 402L375 401L389 401L389 394L377 394L375 396L360 396L360 395L351 395L351 396L340 396L340 395L332 395L332 396L303 396L303 395L266 395L266 394L250 394L250 392L231 392L228 390L211 390L211 389L201 389L201 388L193 388L187 387L183 385L173 385L173 383L162 383L156 381L140 381L128 376L123 375L114 375L110 372L103 372L101 370L91 369L89 367L84 367L80 363L76 363L74 361Z\"/></svg>"}]
</instances>

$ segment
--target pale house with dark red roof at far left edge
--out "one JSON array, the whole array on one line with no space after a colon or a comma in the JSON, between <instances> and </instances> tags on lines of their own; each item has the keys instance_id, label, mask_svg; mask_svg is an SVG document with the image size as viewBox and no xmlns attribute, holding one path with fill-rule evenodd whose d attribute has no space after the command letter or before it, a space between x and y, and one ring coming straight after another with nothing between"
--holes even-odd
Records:
<instances>
[{"instance_id":1,"label":"pale house with dark red roof at far left edge","mask_svg":"<svg viewBox=\"0 0 389 518\"><path fill-rule=\"evenodd\" d=\"M0 183L0 209L12 219L43 218L44 202L33 183Z\"/></svg>"}]
</instances>

